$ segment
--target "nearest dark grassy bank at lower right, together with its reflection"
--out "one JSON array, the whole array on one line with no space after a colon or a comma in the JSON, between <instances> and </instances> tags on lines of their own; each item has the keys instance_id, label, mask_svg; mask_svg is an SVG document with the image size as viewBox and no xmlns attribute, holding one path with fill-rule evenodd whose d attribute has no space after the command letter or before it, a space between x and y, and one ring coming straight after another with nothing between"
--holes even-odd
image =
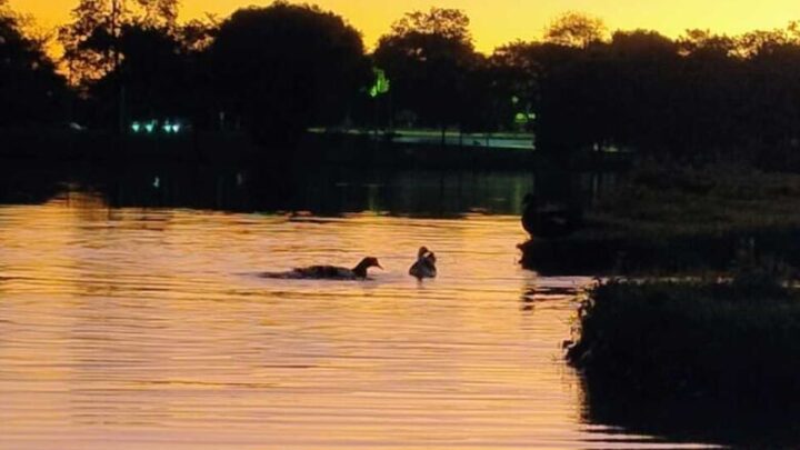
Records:
<instances>
[{"instance_id":1,"label":"nearest dark grassy bank at lower right, together with its reflection","mask_svg":"<svg viewBox=\"0 0 800 450\"><path fill-rule=\"evenodd\" d=\"M799 342L800 294L753 273L611 281L584 301L568 359L593 420L692 440L796 443Z\"/></svg>"}]
</instances>

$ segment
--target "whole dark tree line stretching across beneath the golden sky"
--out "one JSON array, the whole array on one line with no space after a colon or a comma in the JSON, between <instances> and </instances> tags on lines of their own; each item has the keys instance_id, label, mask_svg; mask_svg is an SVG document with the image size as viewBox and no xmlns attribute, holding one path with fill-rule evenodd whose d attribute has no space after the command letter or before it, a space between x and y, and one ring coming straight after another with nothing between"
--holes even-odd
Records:
<instances>
[{"instance_id":1,"label":"whole dark tree line stretching across beneath the golden sky","mask_svg":"<svg viewBox=\"0 0 800 450\"><path fill-rule=\"evenodd\" d=\"M568 12L539 41L482 54L462 11L432 8L399 18L368 52L357 29L314 6L276 1L189 22L178 6L79 0L52 61L0 0L0 126L111 130L182 117L259 142L291 142L309 127L418 127L527 130L557 153L778 158L769 149L800 147L798 22L670 39Z\"/></svg>"}]
</instances>

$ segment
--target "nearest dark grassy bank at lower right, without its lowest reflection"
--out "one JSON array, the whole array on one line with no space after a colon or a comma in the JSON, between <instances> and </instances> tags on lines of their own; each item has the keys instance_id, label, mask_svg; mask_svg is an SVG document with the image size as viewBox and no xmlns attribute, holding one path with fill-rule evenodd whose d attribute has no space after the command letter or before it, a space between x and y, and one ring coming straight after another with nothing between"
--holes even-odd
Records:
<instances>
[{"instance_id":1,"label":"nearest dark grassy bank at lower right, without its lowest reflection","mask_svg":"<svg viewBox=\"0 0 800 450\"><path fill-rule=\"evenodd\" d=\"M800 294L751 274L731 282L597 287L568 358L589 391L771 404L800 398Z\"/></svg>"}]
</instances>

